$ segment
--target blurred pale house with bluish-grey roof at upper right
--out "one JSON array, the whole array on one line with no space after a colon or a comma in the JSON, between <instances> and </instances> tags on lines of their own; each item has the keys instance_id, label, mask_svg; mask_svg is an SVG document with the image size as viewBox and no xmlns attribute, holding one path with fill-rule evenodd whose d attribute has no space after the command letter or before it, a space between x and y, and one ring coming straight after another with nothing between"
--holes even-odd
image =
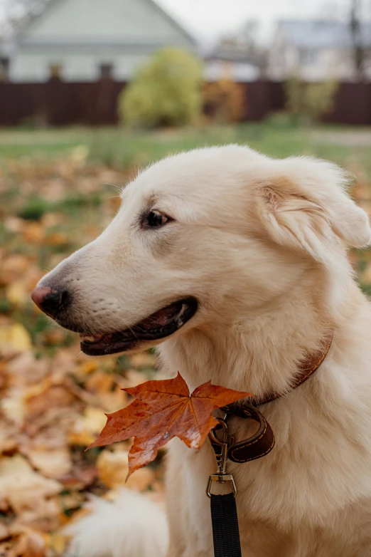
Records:
<instances>
[{"instance_id":1,"label":"blurred pale house with bluish-grey roof at upper right","mask_svg":"<svg viewBox=\"0 0 371 557\"><path fill-rule=\"evenodd\" d=\"M365 76L371 78L371 23L360 24L366 51ZM269 53L268 75L283 80L299 74L311 81L356 80L350 24L328 20L279 21Z\"/></svg>"}]
</instances>

